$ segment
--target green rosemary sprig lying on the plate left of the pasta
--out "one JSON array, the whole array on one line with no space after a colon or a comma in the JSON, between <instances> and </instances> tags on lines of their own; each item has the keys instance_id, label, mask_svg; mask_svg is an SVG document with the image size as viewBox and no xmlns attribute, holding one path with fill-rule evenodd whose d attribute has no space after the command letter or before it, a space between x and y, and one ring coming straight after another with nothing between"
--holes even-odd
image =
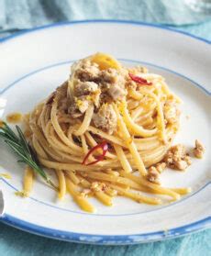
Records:
<instances>
[{"instance_id":1,"label":"green rosemary sprig lying on the plate left of the pasta","mask_svg":"<svg viewBox=\"0 0 211 256\"><path fill-rule=\"evenodd\" d=\"M41 168L37 154L27 142L22 130L18 126L16 126L16 128L17 135L3 122L3 126L0 127L0 138L4 139L6 144L17 153L19 156L18 162L28 164L34 172L39 173L47 184L50 184L55 190L58 190L58 187L52 183L50 177Z\"/></svg>"}]
</instances>

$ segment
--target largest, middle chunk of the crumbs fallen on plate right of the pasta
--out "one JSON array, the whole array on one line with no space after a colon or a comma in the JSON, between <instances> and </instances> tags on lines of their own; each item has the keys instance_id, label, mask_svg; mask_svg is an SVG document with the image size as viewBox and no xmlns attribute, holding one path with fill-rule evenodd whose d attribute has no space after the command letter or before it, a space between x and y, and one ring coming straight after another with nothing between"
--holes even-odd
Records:
<instances>
[{"instance_id":1,"label":"largest, middle chunk of the crumbs fallen on plate right of the pasta","mask_svg":"<svg viewBox=\"0 0 211 256\"><path fill-rule=\"evenodd\" d=\"M191 164L191 158L182 144L175 145L168 150L164 161L168 167L179 171L185 170Z\"/></svg>"}]
</instances>

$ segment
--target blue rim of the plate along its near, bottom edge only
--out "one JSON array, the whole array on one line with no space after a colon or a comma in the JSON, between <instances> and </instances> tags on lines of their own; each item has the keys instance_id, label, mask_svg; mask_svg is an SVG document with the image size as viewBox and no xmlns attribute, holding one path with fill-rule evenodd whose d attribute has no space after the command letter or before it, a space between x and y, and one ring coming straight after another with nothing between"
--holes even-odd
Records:
<instances>
[{"instance_id":1,"label":"blue rim of the plate along its near, bottom edge only","mask_svg":"<svg viewBox=\"0 0 211 256\"><path fill-rule=\"evenodd\" d=\"M211 228L211 217L205 217L197 220L193 223L183 225L181 227L172 228L169 230L162 230L156 232L135 234L135 235L98 235L98 234L82 234L70 231L63 231L54 228L45 228L36 224L32 224L28 221L19 219L5 214L0 222L5 223L13 228L18 228L23 231L27 231L32 234L36 234L42 237L50 239L60 239L69 242L86 243L86 244L98 244L98 245L127 245L127 244L139 244L146 242L154 242L163 239L175 239L193 232L198 232ZM193 229L194 228L194 229Z\"/></svg>"}]
</instances>

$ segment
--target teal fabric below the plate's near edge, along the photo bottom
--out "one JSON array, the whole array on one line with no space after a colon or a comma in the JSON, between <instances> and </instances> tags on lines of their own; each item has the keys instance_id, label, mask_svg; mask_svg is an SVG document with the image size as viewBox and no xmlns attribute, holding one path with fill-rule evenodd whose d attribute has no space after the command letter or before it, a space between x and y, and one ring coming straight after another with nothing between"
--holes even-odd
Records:
<instances>
[{"instance_id":1,"label":"teal fabric below the plate's near edge, along the photo bottom","mask_svg":"<svg viewBox=\"0 0 211 256\"><path fill-rule=\"evenodd\" d=\"M2 256L209 256L211 230L139 245L94 246L45 239L0 223Z\"/></svg>"}]
</instances>

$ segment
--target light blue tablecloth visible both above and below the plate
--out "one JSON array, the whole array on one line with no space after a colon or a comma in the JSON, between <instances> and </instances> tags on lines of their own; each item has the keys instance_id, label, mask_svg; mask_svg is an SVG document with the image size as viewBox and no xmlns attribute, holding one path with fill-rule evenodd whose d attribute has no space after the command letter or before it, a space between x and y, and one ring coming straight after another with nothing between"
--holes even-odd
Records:
<instances>
[{"instance_id":1,"label":"light blue tablecloth visible both above and below the plate","mask_svg":"<svg viewBox=\"0 0 211 256\"><path fill-rule=\"evenodd\" d=\"M58 21L118 18L168 24L211 40L209 16L195 14L180 0L0 0L0 38ZM202 20L204 23L198 24ZM193 25L194 24L194 25ZM176 27L175 27L176 28ZM0 223L0 255L208 256L211 230L179 239L132 246L93 246L45 239Z\"/></svg>"}]
</instances>

